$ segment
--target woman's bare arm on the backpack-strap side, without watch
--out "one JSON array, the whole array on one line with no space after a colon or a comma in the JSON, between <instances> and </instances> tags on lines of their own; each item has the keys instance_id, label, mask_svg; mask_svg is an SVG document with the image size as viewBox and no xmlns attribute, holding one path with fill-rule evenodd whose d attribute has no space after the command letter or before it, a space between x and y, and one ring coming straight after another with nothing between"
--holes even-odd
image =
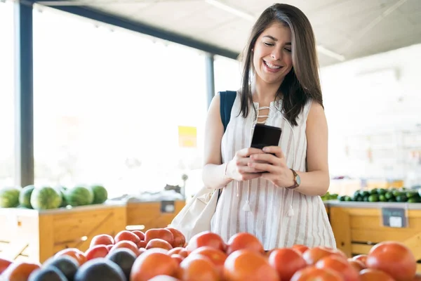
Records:
<instances>
[{"instance_id":1,"label":"woman's bare arm on the backpack-strap side, without watch","mask_svg":"<svg viewBox=\"0 0 421 281\"><path fill-rule=\"evenodd\" d=\"M221 159L223 134L224 126L220 115L220 96L218 94L210 103L205 125L202 180L208 188L222 188L232 181L225 176L225 164L222 164Z\"/></svg>"}]
</instances>

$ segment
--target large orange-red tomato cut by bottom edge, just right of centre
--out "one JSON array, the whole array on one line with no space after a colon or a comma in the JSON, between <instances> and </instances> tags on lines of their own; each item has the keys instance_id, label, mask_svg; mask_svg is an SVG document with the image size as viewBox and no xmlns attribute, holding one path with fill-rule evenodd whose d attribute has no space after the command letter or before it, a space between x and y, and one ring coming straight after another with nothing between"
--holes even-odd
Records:
<instances>
[{"instance_id":1,"label":"large orange-red tomato cut by bottom edge, just right of centre","mask_svg":"<svg viewBox=\"0 0 421 281\"><path fill-rule=\"evenodd\" d=\"M279 281L278 273L262 254L248 249L234 251L225 260L225 281Z\"/></svg>"}]
</instances>

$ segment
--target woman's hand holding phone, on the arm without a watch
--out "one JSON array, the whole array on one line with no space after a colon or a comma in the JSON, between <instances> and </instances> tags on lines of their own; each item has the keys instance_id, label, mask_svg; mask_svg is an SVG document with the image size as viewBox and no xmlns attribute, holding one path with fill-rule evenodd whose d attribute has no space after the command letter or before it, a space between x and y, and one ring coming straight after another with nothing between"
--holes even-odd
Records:
<instances>
[{"instance_id":1,"label":"woman's hand holding phone, on the arm without a watch","mask_svg":"<svg viewBox=\"0 0 421 281\"><path fill-rule=\"evenodd\" d=\"M244 148L236 152L234 158L228 162L226 175L234 181L248 181L259 178L262 171L253 168L250 164L256 161L250 159L250 155L264 155L265 152L258 148Z\"/></svg>"}]
</instances>

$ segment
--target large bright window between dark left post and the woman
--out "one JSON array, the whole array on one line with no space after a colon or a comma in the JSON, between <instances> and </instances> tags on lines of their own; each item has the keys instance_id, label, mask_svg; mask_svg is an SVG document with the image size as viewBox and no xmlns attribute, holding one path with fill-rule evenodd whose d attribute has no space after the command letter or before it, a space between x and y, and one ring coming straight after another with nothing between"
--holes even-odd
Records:
<instances>
[{"instance_id":1,"label":"large bright window between dark left post and the woman","mask_svg":"<svg viewBox=\"0 0 421 281\"><path fill-rule=\"evenodd\" d=\"M199 51L34 11L36 184L102 183L110 197L182 184L201 148L179 148L178 126L200 144L205 119Z\"/></svg>"}]
</instances>

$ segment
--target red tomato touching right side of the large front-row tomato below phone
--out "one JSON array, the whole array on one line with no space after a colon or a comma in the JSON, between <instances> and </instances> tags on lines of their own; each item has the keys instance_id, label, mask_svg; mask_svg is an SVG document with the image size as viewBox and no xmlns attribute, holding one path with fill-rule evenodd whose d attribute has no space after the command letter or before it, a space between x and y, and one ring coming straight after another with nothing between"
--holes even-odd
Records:
<instances>
[{"instance_id":1,"label":"red tomato touching right side of the large front-row tomato below phone","mask_svg":"<svg viewBox=\"0 0 421 281\"><path fill-rule=\"evenodd\" d=\"M307 266L307 262L295 249L274 249L269 255L269 264L275 268L281 280L290 280L294 273Z\"/></svg>"}]
</instances>

